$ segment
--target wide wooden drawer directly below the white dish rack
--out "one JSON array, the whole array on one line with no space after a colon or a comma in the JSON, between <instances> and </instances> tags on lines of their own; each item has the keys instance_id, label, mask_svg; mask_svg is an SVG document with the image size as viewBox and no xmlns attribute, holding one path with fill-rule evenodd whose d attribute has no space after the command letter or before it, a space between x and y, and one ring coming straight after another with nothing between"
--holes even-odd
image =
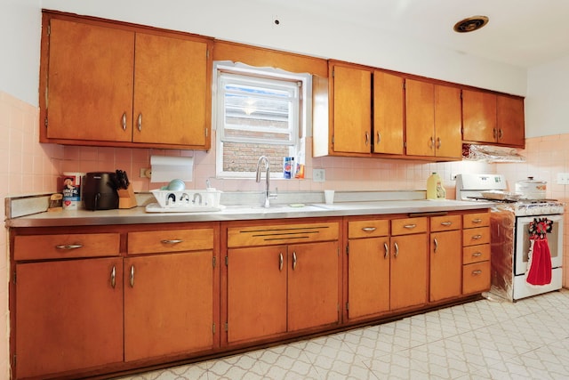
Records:
<instances>
[{"instance_id":1,"label":"wide wooden drawer directly below the white dish rack","mask_svg":"<svg viewBox=\"0 0 569 380\"><path fill-rule=\"evenodd\" d=\"M127 252L135 255L213 249L213 236L212 228L129 232Z\"/></svg>"}]
</instances>

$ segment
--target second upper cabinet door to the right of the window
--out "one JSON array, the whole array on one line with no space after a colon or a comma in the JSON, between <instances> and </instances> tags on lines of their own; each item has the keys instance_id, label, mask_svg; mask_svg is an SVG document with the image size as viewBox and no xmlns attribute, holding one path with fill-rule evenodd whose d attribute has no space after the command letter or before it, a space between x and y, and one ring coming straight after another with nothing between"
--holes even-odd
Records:
<instances>
[{"instance_id":1,"label":"second upper cabinet door to the right of the window","mask_svg":"<svg viewBox=\"0 0 569 380\"><path fill-rule=\"evenodd\" d=\"M373 152L404 154L404 79L383 71L373 72Z\"/></svg>"}]
</instances>

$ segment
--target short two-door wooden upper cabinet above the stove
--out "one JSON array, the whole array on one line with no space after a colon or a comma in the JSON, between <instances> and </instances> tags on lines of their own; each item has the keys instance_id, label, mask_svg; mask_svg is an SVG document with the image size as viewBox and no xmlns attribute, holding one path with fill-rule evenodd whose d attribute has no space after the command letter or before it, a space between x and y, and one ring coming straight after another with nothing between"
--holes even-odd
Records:
<instances>
[{"instance_id":1,"label":"short two-door wooden upper cabinet above the stove","mask_svg":"<svg viewBox=\"0 0 569 380\"><path fill-rule=\"evenodd\" d=\"M525 146L523 98L463 90L462 123L464 141Z\"/></svg>"}]
</instances>

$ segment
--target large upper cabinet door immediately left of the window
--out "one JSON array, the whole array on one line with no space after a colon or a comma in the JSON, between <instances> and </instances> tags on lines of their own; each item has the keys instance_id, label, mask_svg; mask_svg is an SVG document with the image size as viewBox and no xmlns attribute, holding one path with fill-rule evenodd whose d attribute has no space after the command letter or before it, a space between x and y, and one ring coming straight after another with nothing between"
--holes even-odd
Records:
<instances>
[{"instance_id":1,"label":"large upper cabinet door immediately left of the window","mask_svg":"<svg viewBox=\"0 0 569 380\"><path fill-rule=\"evenodd\" d=\"M136 34L132 141L206 144L207 44Z\"/></svg>"}]
</instances>

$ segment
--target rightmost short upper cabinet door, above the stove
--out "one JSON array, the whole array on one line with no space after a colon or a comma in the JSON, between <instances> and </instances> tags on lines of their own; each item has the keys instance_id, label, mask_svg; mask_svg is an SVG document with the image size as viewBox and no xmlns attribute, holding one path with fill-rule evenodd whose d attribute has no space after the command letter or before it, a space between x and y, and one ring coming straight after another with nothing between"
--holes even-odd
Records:
<instances>
[{"instance_id":1,"label":"rightmost short upper cabinet door, above the stove","mask_svg":"<svg viewBox=\"0 0 569 380\"><path fill-rule=\"evenodd\" d=\"M498 142L524 147L524 100L506 95L497 96Z\"/></svg>"}]
</instances>

